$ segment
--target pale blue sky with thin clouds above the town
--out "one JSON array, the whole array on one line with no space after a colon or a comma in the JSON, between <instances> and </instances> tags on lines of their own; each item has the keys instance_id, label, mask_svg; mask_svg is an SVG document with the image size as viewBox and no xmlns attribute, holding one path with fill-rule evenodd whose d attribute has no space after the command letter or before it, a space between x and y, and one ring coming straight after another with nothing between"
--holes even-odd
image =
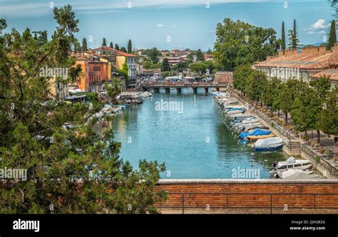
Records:
<instances>
[{"instance_id":1,"label":"pale blue sky with thin clouds above the town","mask_svg":"<svg viewBox=\"0 0 338 237\"><path fill-rule=\"evenodd\" d=\"M7 28L24 31L47 30L48 36L56 28L53 6L71 4L79 20L76 37L86 38L88 48L107 44L133 48L173 49L213 48L217 23L225 18L239 19L255 26L274 28L281 35L297 21L302 44L322 43L334 19L327 0L0 0L0 18Z\"/></svg>"}]
</instances>

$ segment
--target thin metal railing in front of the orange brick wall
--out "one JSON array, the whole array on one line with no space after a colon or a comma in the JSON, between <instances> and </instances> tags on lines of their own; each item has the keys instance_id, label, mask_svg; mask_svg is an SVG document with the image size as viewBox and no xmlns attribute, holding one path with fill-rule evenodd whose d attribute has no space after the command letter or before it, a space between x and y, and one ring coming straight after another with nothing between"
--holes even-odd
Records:
<instances>
[{"instance_id":1,"label":"thin metal railing in front of the orange brick wall","mask_svg":"<svg viewBox=\"0 0 338 237\"><path fill-rule=\"evenodd\" d=\"M206 205L209 204L198 204L198 201L201 200L201 198L199 200L195 200L194 196L223 196L225 202L223 205L214 205L214 206L208 206L209 209L269 209L270 214L273 214L273 209L277 209L277 208L285 208L284 205L287 205L287 209L338 209L338 193L201 193L201 192L170 192L168 193L168 197L170 197L170 195L180 195L180 205L179 206L172 206L172 205L167 205L167 206L158 206L158 208L169 208L169 209L182 209L182 214L185 214L185 209L206 209ZM229 196L234 196L234 195L238 195L238 196L245 196L245 195L250 195L250 196L255 196L255 198L251 198L250 201L255 201L256 199L259 199L259 201L262 201L262 197L265 196L265 200L268 200L266 203L264 204L260 204L260 205L243 205L245 202L241 201L242 206L240 205L231 205L229 204ZM280 205L276 205L274 206L273 200L276 196L287 196L288 198L285 199L285 202L282 202L280 199L278 200L278 203ZM288 205L288 203L290 203L290 196L300 196L300 201L299 202L305 202L306 205L297 203L295 205ZM308 196L310 197L310 199L304 199L304 196ZM331 203L333 204L329 204L327 202L324 202L325 205L323 205L322 203L318 205L318 197L319 196L334 196L334 198L336 199L329 199L331 201ZM188 199L187 199L188 197ZM169 198L168 198L169 199ZM168 200L167 200L168 201ZM247 201L247 200L246 200ZM195 204L191 204L191 202L194 202ZM200 201L202 202L202 201ZM281 203L283 203L283 206L281 206Z\"/></svg>"}]
</instances>

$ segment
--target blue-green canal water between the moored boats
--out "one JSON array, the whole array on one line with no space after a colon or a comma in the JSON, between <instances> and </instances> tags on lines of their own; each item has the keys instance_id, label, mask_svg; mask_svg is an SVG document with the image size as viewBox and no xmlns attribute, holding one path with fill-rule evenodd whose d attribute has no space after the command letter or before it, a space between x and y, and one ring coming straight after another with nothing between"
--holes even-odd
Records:
<instances>
[{"instance_id":1,"label":"blue-green canal water between the moored boats","mask_svg":"<svg viewBox=\"0 0 338 237\"><path fill-rule=\"evenodd\" d=\"M269 178L268 167L286 155L252 152L240 144L223 124L220 107L203 92L160 91L119 112L112 125L121 142L121 158L134 168L140 159L165 162L165 179Z\"/></svg>"}]
</instances>

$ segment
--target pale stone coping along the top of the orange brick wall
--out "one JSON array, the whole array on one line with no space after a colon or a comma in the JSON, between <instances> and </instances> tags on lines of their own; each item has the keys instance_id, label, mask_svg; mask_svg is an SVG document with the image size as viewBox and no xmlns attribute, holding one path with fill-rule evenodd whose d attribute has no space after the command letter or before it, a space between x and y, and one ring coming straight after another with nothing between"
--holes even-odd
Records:
<instances>
[{"instance_id":1,"label":"pale stone coping along the top of the orange brick wall","mask_svg":"<svg viewBox=\"0 0 338 237\"><path fill-rule=\"evenodd\" d=\"M338 179L160 179L158 184L338 184Z\"/></svg>"}]
</instances>

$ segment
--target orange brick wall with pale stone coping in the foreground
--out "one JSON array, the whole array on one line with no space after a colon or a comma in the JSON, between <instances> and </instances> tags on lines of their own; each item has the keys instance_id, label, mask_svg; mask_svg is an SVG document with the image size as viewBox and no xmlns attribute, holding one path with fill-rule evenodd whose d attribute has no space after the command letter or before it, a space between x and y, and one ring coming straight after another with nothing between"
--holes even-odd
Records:
<instances>
[{"instance_id":1,"label":"orange brick wall with pale stone coping in the foreground","mask_svg":"<svg viewBox=\"0 0 338 237\"><path fill-rule=\"evenodd\" d=\"M338 207L338 181L285 181L276 179L162 179L156 187L168 191L161 207Z\"/></svg>"}]
</instances>

